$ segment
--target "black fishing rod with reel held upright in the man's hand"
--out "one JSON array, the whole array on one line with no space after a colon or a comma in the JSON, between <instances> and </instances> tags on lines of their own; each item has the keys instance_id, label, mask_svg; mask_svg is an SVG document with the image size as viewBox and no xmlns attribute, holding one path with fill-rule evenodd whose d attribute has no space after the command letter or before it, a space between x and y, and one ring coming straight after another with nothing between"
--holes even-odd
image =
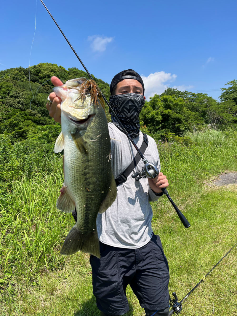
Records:
<instances>
[{"instance_id":1,"label":"black fishing rod with reel held upright in the man's hand","mask_svg":"<svg viewBox=\"0 0 237 316\"><path fill-rule=\"evenodd\" d=\"M69 40L66 38L64 32L61 30L61 28L59 27L58 23L55 21L55 19L53 18L52 14L49 12L48 8L46 7L46 5L43 3L42 0L40 0L40 2L43 4L43 6L45 7L45 9L47 10L48 14L51 16L52 20L54 21L54 23L57 25L59 31L62 33L64 39L67 41L68 45L70 46L71 50L74 52L74 54L76 55L76 58L79 60L79 62L82 64L82 67L86 70L88 76L90 77L90 79L94 80L91 76L91 74L89 73L89 71L87 70L86 66L83 64L81 58L77 55L75 49L72 47L71 43L69 42ZM128 137L128 139L130 140L130 142L133 144L133 146L135 147L135 149L137 150L138 154L140 155L140 157L142 158L142 161L144 163L144 167L142 168L142 171L138 171L136 173L132 174L132 178L136 178L136 181L139 181L141 178L155 178L158 174L159 174L159 170L158 168L151 162L148 162L148 160L143 156L143 154L141 153L140 149L137 147L137 145L134 143L132 137L129 135L129 133L126 131L125 127L123 126L123 124L120 122L119 118L117 117L116 113L113 111L112 107L110 106L109 102L107 101L106 97L104 96L104 94L101 92L103 99L105 100L106 104L108 105L108 107L110 108L111 112L113 113L113 115L116 117L116 119L118 120L119 125L121 126L121 128L123 129L123 131L125 132L126 136ZM161 189L162 192L167 196L168 200L170 201L170 203L173 205L176 213L178 214L181 222L184 224L185 228L190 227L190 224L188 222L188 220L186 219L186 217L180 212L180 210L178 209L178 207L174 204L172 198L169 196L168 191L166 190L166 188Z\"/></svg>"}]
</instances>

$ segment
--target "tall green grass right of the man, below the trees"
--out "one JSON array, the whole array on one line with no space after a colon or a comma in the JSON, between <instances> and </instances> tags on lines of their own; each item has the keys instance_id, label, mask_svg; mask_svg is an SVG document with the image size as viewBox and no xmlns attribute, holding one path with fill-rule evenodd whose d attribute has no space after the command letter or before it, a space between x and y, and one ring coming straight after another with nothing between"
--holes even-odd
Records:
<instances>
[{"instance_id":1,"label":"tall green grass right of the man, below the trees","mask_svg":"<svg viewBox=\"0 0 237 316\"><path fill-rule=\"evenodd\" d=\"M187 132L183 141L158 141L161 171L170 180L169 190L182 196L190 186L225 170L237 170L237 131Z\"/></svg>"}]
</instances>

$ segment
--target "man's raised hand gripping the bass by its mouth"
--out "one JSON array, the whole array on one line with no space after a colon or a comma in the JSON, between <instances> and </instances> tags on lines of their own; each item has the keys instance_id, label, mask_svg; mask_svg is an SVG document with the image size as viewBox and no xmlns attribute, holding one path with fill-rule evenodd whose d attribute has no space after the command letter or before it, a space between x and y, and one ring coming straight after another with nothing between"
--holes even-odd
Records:
<instances>
[{"instance_id":1,"label":"man's raised hand gripping the bass by its mouth","mask_svg":"<svg viewBox=\"0 0 237 316\"><path fill-rule=\"evenodd\" d=\"M53 76L51 78L51 81L52 81L52 84L54 85L54 87L59 87L63 84L63 82L55 76ZM49 105L48 102L46 104L46 108L49 111L49 116L51 116L55 120L55 122L58 122L61 124L60 103L62 100L59 97L57 97L57 95L54 92L52 92L49 95L49 100L52 101L51 105Z\"/></svg>"}]
</instances>

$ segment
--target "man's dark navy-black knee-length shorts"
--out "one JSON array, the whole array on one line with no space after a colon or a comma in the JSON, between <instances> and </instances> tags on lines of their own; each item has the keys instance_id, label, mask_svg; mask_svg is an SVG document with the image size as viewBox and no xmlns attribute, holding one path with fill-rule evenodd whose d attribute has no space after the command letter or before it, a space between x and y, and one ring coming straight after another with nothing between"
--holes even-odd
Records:
<instances>
[{"instance_id":1,"label":"man's dark navy-black knee-length shorts","mask_svg":"<svg viewBox=\"0 0 237 316\"><path fill-rule=\"evenodd\" d=\"M118 248L100 242L100 259L91 255L93 293L97 307L108 315L129 311L126 287L141 307L160 310L169 306L169 268L161 240L151 240L138 249Z\"/></svg>"}]
</instances>

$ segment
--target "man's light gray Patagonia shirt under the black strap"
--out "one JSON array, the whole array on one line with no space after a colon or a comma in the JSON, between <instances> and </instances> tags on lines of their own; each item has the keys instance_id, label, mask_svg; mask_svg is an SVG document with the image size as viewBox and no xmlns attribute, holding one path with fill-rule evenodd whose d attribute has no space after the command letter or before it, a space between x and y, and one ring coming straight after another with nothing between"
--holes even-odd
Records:
<instances>
[{"instance_id":1,"label":"man's light gray Patagonia shirt under the black strap","mask_svg":"<svg viewBox=\"0 0 237 316\"><path fill-rule=\"evenodd\" d=\"M127 136L113 123L108 123L111 138L111 167L117 178L134 159L137 150ZM144 153L145 158L160 171L160 159L155 140L147 136L149 143ZM143 143L143 133L133 138L137 147ZM142 159L132 173L144 166ZM152 236L151 219L153 216L149 201L156 201L159 196L150 189L148 179L136 181L127 177L126 182L117 187L117 197L113 204L97 216L98 237L104 244L121 248L140 248L147 244Z\"/></svg>"}]
</instances>

